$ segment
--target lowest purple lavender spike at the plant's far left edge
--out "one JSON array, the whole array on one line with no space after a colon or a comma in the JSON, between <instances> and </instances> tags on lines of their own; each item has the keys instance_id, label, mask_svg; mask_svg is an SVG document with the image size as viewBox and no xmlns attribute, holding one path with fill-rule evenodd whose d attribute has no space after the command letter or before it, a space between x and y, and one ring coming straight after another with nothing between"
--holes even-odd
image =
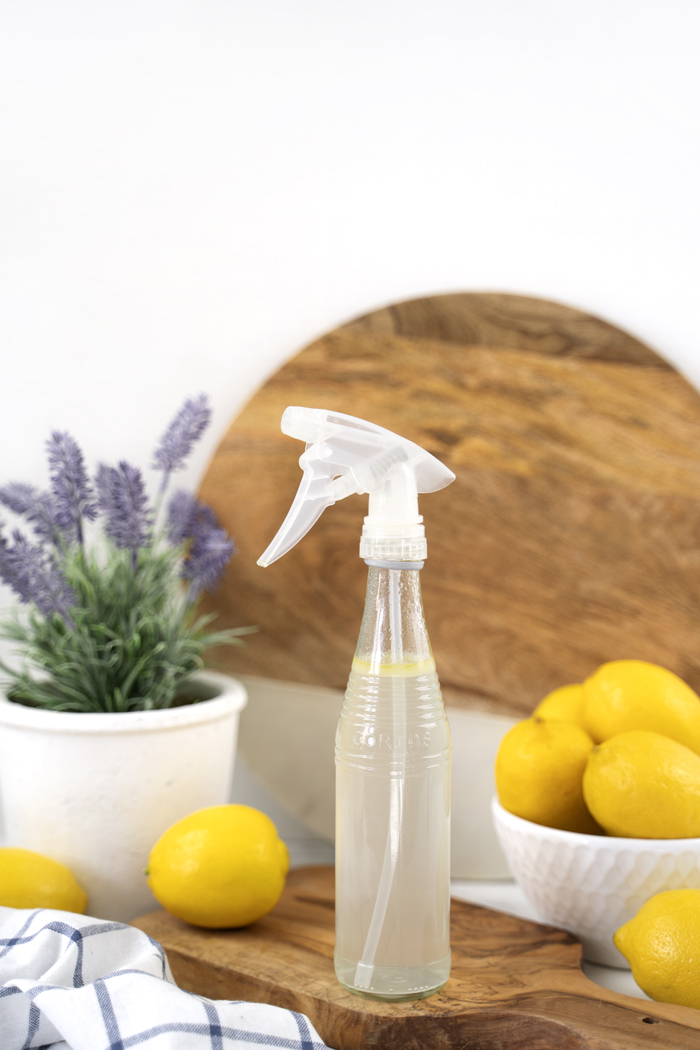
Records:
<instances>
[{"instance_id":1,"label":"lowest purple lavender spike at the plant's far left edge","mask_svg":"<svg viewBox=\"0 0 700 1050\"><path fill-rule=\"evenodd\" d=\"M59 613L70 623L68 610L76 604L76 594L54 558L17 529L12 547L4 537L1 540L0 579L9 584L20 602L36 605L47 617Z\"/></svg>"}]
</instances>

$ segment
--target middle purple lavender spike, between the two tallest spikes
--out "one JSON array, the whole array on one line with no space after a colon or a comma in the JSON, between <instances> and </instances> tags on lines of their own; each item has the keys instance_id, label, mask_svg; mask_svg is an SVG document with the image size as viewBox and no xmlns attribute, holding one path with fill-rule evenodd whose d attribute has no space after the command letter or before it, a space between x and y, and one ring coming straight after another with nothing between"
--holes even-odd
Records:
<instances>
[{"instance_id":1,"label":"middle purple lavender spike, between the two tallest spikes","mask_svg":"<svg viewBox=\"0 0 700 1050\"><path fill-rule=\"evenodd\" d=\"M126 463L98 468L98 505L106 518L105 532L115 546L131 550L146 544L151 518L141 470Z\"/></svg>"}]
</instances>

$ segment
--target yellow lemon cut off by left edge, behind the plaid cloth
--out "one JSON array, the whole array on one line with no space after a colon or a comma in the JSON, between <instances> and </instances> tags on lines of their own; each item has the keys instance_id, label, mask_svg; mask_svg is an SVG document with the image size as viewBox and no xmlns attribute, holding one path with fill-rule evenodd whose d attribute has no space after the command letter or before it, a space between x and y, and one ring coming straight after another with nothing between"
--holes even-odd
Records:
<instances>
[{"instance_id":1,"label":"yellow lemon cut off by left edge, behind the plaid cloth","mask_svg":"<svg viewBox=\"0 0 700 1050\"><path fill-rule=\"evenodd\" d=\"M0 904L85 914L87 894L65 864L31 849L0 848Z\"/></svg>"}]
</instances>

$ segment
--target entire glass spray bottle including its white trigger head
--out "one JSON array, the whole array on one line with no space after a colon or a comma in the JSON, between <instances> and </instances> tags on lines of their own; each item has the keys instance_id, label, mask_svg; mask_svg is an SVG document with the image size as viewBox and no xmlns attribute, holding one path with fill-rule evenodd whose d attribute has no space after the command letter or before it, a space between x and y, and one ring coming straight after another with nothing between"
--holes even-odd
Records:
<instances>
[{"instance_id":1,"label":"entire glass spray bottle including its white trigger head","mask_svg":"<svg viewBox=\"0 0 700 1050\"><path fill-rule=\"evenodd\" d=\"M369 494L367 594L336 736L336 974L368 998L421 999L450 969L451 747L423 617L418 494L454 475L342 413L290 407L281 427L306 443L303 478L258 565L291 550L333 503Z\"/></svg>"}]
</instances>

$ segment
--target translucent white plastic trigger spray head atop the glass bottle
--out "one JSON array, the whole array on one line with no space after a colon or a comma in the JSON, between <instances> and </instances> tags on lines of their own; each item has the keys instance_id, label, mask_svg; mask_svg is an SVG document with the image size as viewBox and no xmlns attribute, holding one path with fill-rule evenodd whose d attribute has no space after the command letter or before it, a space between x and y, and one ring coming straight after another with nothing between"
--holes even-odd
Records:
<instances>
[{"instance_id":1,"label":"translucent white plastic trigger spray head atop the glass bottle","mask_svg":"<svg viewBox=\"0 0 700 1050\"><path fill-rule=\"evenodd\" d=\"M290 512L258 565L285 554L326 507L353 492L369 495L360 556L422 562L427 555L418 494L436 492L454 475L424 448L355 416L324 408L287 408L282 433L305 441L303 478Z\"/></svg>"}]
</instances>

